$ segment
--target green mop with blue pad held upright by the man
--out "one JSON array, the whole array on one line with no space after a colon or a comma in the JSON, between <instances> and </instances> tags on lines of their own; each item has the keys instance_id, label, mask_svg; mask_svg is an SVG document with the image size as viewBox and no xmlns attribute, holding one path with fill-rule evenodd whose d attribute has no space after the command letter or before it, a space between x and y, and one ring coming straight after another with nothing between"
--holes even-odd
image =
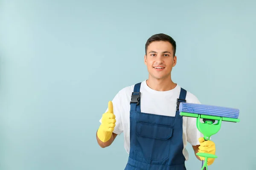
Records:
<instances>
[{"instance_id":1,"label":"green mop with blue pad held upright by the man","mask_svg":"<svg viewBox=\"0 0 256 170\"><path fill-rule=\"evenodd\" d=\"M210 140L210 137L220 130L223 121L240 122L240 119L238 119L239 109L235 108L180 102L179 111L180 116L197 118L196 125L198 130L204 135L204 140ZM201 119L203 119L203 122L200 121ZM215 121L217 122L215 123ZM204 157L201 170L208 170L208 158L217 158L216 155L209 153L196 154Z\"/></svg>"}]
</instances>

